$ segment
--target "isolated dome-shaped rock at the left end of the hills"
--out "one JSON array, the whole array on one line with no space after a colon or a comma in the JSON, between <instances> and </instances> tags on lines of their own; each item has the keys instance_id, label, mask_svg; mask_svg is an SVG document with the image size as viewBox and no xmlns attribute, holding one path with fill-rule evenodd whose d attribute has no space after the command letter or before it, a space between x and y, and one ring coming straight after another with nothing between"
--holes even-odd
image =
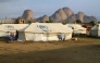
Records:
<instances>
[{"instance_id":1,"label":"isolated dome-shaped rock at the left end of the hills","mask_svg":"<svg viewBox=\"0 0 100 63\"><path fill-rule=\"evenodd\" d=\"M25 10L22 17L26 21L34 20L34 14L32 10Z\"/></svg>"}]
</instances>

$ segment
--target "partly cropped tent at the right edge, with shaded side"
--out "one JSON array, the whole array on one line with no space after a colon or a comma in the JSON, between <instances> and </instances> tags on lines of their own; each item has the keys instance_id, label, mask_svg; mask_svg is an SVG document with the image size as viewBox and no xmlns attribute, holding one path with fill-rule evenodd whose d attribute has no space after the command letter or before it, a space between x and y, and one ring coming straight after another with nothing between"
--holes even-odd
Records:
<instances>
[{"instance_id":1,"label":"partly cropped tent at the right edge, with shaded side","mask_svg":"<svg viewBox=\"0 0 100 63\"><path fill-rule=\"evenodd\" d=\"M90 36L100 37L100 24L95 25L95 26L90 29Z\"/></svg>"}]
</instances>

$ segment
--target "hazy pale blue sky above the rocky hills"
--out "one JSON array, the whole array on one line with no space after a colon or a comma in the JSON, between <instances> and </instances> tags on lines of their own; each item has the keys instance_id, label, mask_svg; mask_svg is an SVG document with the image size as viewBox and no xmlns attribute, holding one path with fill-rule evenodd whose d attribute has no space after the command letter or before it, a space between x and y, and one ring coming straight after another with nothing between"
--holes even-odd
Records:
<instances>
[{"instance_id":1,"label":"hazy pale blue sky above the rocky hills","mask_svg":"<svg viewBox=\"0 0 100 63\"><path fill-rule=\"evenodd\" d=\"M100 18L100 0L0 0L0 18L22 16L27 9L33 10L35 17L52 15L64 7Z\"/></svg>"}]
</instances>

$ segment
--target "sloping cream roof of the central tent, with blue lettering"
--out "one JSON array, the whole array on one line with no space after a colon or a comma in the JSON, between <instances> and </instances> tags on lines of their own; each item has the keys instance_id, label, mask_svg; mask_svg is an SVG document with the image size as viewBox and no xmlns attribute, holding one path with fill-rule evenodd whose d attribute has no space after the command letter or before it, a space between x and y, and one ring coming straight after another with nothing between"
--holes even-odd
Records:
<instances>
[{"instance_id":1,"label":"sloping cream roof of the central tent, with blue lettering","mask_svg":"<svg viewBox=\"0 0 100 63\"><path fill-rule=\"evenodd\" d=\"M24 32L29 33L72 33L72 28L61 23L32 23ZM22 32L22 30L21 30Z\"/></svg>"}]
</instances>

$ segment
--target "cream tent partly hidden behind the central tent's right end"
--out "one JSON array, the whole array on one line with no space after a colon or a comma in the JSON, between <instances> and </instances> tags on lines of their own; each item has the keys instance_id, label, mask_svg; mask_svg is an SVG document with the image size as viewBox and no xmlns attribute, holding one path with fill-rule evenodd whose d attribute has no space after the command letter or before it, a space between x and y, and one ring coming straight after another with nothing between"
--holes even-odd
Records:
<instances>
[{"instance_id":1,"label":"cream tent partly hidden behind the central tent's right end","mask_svg":"<svg viewBox=\"0 0 100 63\"><path fill-rule=\"evenodd\" d=\"M82 27L79 24L66 24L66 26L72 28L74 34L86 34L86 28Z\"/></svg>"}]
</instances>

